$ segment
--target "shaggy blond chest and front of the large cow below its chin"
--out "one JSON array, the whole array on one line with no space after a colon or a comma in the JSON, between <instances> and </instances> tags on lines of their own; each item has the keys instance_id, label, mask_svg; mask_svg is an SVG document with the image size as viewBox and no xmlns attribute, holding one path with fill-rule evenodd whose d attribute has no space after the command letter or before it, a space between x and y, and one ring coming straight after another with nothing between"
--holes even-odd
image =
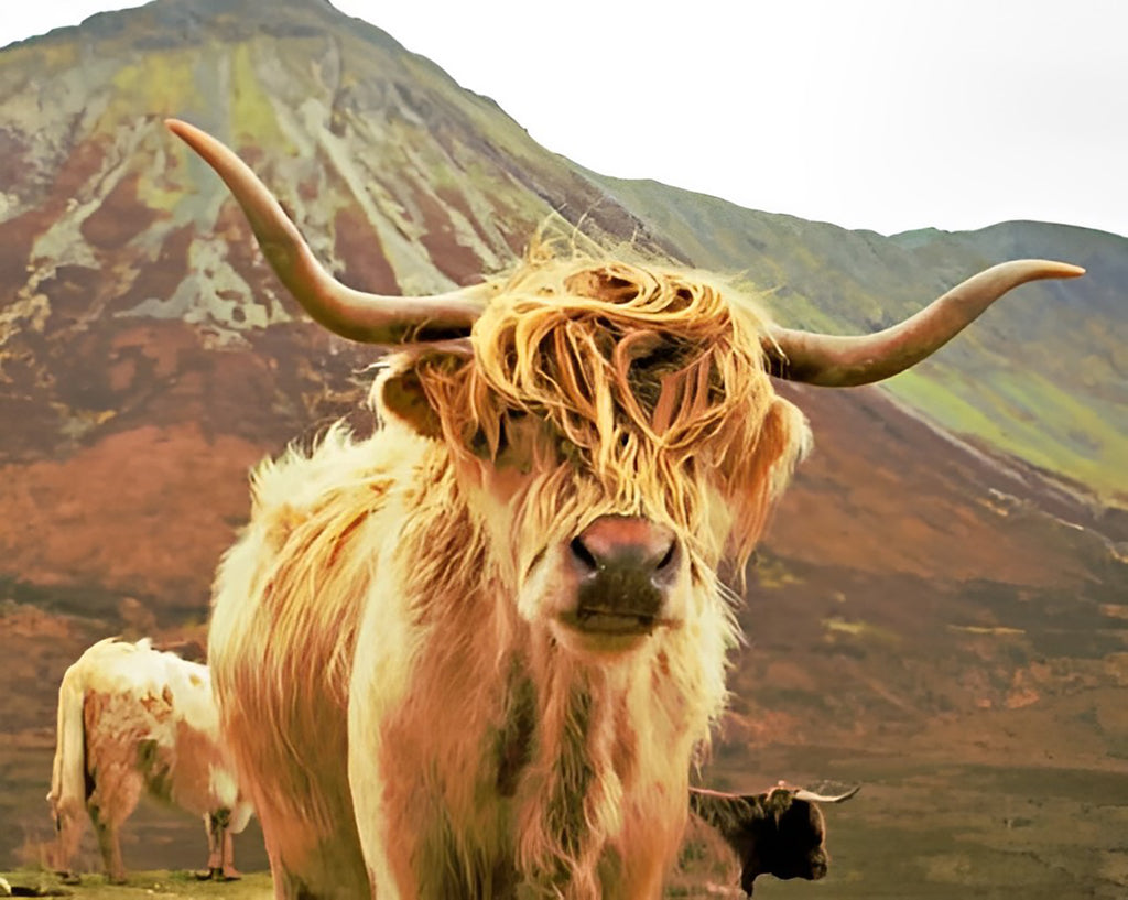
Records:
<instances>
[{"instance_id":1,"label":"shaggy blond chest and front of the large cow below its chin","mask_svg":"<svg viewBox=\"0 0 1128 900\"><path fill-rule=\"evenodd\" d=\"M675 629L580 660L502 599L481 529L449 513L406 519L381 561L397 589L373 592L363 612L350 699L350 743L377 748L371 766L351 761L377 893L656 895L708 722L691 699L699 679L670 658L693 669L704 654Z\"/></svg>"}]
</instances>

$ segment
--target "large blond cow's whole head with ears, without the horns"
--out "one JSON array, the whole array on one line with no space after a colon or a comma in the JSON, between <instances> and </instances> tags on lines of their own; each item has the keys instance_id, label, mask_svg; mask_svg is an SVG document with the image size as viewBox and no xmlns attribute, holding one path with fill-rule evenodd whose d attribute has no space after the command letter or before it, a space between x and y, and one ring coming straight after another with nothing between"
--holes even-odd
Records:
<instances>
[{"instance_id":1,"label":"large blond cow's whole head with ears, without the horns","mask_svg":"<svg viewBox=\"0 0 1128 900\"><path fill-rule=\"evenodd\" d=\"M380 396L450 445L520 615L618 653L719 602L805 443L761 334L714 284L555 262L500 291L473 353L426 351Z\"/></svg>"}]
</instances>

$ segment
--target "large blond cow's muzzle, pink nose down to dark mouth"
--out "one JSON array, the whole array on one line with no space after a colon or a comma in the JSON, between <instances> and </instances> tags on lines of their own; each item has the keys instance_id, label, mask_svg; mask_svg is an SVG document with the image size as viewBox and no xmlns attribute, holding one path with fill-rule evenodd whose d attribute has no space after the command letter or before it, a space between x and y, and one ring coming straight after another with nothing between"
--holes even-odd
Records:
<instances>
[{"instance_id":1,"label":"large blond cow's muzzle, pink nose down to dark mouth","mask_svg":"<svg viewBox=\"0 0 1128 900\"><path fill-rule=\"evenodd\" d=\"M681 552L668 528L645 519L605 515L569 545L575 608L565 625L590 634L643 635L662 623Z\"/></svg>"}]
</instances>

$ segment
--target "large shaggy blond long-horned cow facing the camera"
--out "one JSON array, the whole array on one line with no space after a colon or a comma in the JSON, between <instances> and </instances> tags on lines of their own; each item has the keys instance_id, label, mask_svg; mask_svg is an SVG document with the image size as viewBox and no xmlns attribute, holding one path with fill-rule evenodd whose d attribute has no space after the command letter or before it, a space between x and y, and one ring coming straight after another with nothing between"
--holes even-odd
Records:
<instances>
[{"instance_id":1,"label":"large shaggy blond long-horned cow facing the camera","mask_svg":"<svg viewBox=\"0 0 1128 900\"><path fill-rule=\"evenodd\" d=\"M257 468L217 575L209 653L281 898L658 897L725 703L717 568L743 571L807 445L768 376L887 378L1011 288L1082 272L996 266L853 338L695 273L536 252L378 297L228 148L168 124L317 321L403 346L374 435Z\"/></svg>"}]
</instances>

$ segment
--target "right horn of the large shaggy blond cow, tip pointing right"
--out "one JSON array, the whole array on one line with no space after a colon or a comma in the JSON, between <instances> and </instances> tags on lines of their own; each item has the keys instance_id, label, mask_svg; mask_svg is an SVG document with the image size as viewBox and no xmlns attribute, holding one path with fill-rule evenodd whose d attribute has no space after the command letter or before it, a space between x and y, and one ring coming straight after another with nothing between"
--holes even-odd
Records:
<instances>
[{"instance_id":1,"label":"right horn of the large shaggy blond cow, tip pointing right","mask_svg":"<svg viewBox=\"0 0 1128 900\"><path fill-rule=\"evenodd\" d=\"M1075 279L1085 270L1046 259L992 266L905 321L876 334L838 337L775 327L764 339L772 374L821 387L851 388L890 378L935 353L998 298L1040 279Z\"/></svg>"}]
</instances>

